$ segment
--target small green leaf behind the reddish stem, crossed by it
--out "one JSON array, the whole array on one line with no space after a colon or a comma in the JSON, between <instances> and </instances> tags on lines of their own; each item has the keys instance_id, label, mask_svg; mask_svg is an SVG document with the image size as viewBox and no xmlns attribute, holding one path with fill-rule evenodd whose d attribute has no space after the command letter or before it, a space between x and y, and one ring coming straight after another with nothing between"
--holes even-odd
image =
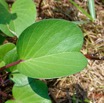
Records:
<instances>
[{"instance_id":1,"label":"small green leaf behind the reddish stem, crossed by it","mask_svg":"<svg viewBox=\"0 0 104 103\"><path fill-rule=\"evenodd\" d=\"M17 49L13 48L12 50L10 50L3 58L3 60L5 61L6 64L15 62L16 60L18 60L18 54L17 54ZM8 72L12 72L14 70L16 70L16 66L12 66L8 69L6 69Z\"/></svg>"}]
</instances>

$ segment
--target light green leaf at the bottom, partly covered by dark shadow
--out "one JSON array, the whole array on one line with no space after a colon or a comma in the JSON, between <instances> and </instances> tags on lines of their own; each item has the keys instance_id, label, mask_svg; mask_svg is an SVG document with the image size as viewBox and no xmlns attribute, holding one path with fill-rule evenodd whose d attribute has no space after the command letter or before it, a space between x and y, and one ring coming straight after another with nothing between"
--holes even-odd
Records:
<instances>
[{"instance_id":1,"label":"light green leaf at the bottom, partly covered by dark shadow","mask_svg":"<svg viewBox=\"0 0 104 103\"><path fill-rule=\"evenodd\" d=\"M15 99L6 103L51 103L45 83L19 73L13 74L13 77L16 83L12 90Z\"/></svg>"}]
</instances>

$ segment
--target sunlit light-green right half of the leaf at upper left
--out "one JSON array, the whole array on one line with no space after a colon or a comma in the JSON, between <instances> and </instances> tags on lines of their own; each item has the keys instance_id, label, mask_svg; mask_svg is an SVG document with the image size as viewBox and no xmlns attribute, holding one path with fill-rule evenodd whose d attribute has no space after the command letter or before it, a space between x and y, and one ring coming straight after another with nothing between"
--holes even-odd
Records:
<instances>
[{"instance_id":1,"label":"sunlit light-green right half of the leaf at upper left","mask_svg":"<svg viewBox=\"0 0 104 103\"><path fill-rule=\"evenodd\" d=\"M12 13L17 15L13 21L17 36L33 24L36 19L36 7L32 0L16 0L12 6Z\"/></svg>"}]
</instances>

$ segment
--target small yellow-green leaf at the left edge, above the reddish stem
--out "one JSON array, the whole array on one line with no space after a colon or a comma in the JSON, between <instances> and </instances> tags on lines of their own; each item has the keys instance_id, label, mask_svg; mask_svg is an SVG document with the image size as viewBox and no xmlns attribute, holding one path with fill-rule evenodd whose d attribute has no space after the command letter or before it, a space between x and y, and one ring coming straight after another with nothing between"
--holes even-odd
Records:
<instances>
[{"instance_id":1,"label":"small yellow-green leaf at the left edge, above the reddish stem","mask_svg":"<svg viewBox=\"0 0 104 103\"><path fill-rule=\"evenodd\" d=\"M0 59L3 59L5 54L7 52L9 52L10 50L12 50L14 47L15 47L15 45L12 44L12 43L7 43L7 44L4 44L4 45L1 45L0 46Z\"/></svg>"}]
</instances>

